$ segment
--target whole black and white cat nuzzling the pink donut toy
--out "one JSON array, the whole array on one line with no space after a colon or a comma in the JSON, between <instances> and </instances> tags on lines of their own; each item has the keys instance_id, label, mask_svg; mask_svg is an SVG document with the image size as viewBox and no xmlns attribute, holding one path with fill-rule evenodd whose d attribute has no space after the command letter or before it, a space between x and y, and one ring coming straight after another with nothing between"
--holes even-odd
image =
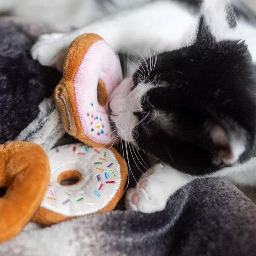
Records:
<instances>
[{"instance_id":1,"label":"whole black and white cat nuzzling the pink donut toy","mask_svg":"<svg viewBox=\"0 0 256 256\"><path fill-rule=\"evenodd\" d=\"M164 209L195 178L256 183L256 17L231 4L238 19L226 0L154 1L43 35L32 48L34 59L61 70L71 41L94 32L118 52L149 57L109 102L120 137L160 160L128 192L130 209Z\"/></svg>"}]
</instances>

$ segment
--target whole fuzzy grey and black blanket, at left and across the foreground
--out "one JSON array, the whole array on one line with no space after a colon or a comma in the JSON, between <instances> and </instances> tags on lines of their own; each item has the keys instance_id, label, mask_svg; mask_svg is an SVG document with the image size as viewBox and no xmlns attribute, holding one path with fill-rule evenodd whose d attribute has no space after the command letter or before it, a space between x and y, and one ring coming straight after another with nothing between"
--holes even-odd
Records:
<instances>
[{"instance_id":1,"label":"whole fuzzy grey and black blanket, at left and across the foreground","mask_svg":"<svg viewBox=\"0 0 256 256\"><path fill-rule=\"evenodd\" d=\"M47 111L38 105L52 94L61 75L31 59L34 40L30 27L0 19L0 143L17 136L30 140L55 115L50 100L43 103ZM61 128L50 131L44 148L63 135ZM228 181L194 181L177 191L161 212L114 210L47 228L29 223L0 244L0 255L255 256L256 206Z\"/></svg>"}]
</instances>

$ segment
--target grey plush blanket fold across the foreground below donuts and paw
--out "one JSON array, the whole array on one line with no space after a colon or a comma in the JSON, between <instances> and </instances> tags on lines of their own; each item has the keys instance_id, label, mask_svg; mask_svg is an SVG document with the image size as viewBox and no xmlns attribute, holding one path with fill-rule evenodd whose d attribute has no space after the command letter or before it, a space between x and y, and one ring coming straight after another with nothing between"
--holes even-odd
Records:
<instances>
[{"instance_id":1,"label":"grey plush blanket fold across the foreground below donuts and paw","mask_svg":"<svg viewBox=\"0 0 256 256\"><path fill-rule=\"evenodd\" d=\"M162 212L112 211L24 230L4 256L255 256L256 206L222 180L193 181Z\"/></svg>"}]
</instances>

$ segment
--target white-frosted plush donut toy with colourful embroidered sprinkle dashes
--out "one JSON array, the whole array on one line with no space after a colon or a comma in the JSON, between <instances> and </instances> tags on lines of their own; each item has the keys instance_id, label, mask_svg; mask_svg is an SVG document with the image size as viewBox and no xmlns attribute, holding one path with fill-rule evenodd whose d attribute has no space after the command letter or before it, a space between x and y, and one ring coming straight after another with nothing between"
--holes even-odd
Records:
<instances>
[{"instance_id":1,"label":"white-frosted plush donut toy with colourful embroidered sprinkle dashes","mask_svg":"<svg viewBox=\"0 0 256 256\"><path fill-rule=\"evenodd\" d=\"M48 157L50 183L33 221L51 225L105 212L121 199L127 168L116 150L78 143L58 146Z\"/></svg>"}]
</instances>

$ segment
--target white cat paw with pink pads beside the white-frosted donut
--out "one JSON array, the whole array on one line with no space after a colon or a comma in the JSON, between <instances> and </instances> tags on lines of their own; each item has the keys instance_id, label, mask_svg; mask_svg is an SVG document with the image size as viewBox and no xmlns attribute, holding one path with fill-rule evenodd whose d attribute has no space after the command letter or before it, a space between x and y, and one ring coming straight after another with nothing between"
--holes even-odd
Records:
<instances>
[{"instance_id":1,"label":"white cat paw with pink pads beside the white-frosted donut","mask_svg":"<svg viewBox=\"0 0 256 256\"><path fill-rule=\"evenodd\" d=\"M136 188L128 191L126 208L144 213L163 210L168 199L163 193L161 184L155 182L153 176L143 178Z\"/></svg>"}]
</instances>

